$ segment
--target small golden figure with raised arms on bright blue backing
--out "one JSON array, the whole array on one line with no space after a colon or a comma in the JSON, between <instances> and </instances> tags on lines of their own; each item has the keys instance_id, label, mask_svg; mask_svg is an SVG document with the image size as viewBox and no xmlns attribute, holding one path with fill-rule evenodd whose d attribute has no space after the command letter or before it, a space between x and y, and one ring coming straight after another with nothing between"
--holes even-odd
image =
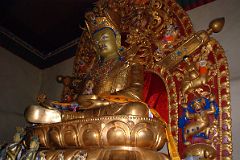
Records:
<instances>
[{"instance_id":1,"label":"small golden figure with raised arms on bright blue backing","mask_svg":"<svg viewBox=\"0 0 240 160\"><path fill-rule=\"evenodd\" d=\"M218 116L218 106L214 101L214 96L198 98L184 105L184 115L179 121L179 127L183 129L184 143L189 145L190 136L202 137L208 141L211 122L209 115Z\"/></svg>"}]
</instances>

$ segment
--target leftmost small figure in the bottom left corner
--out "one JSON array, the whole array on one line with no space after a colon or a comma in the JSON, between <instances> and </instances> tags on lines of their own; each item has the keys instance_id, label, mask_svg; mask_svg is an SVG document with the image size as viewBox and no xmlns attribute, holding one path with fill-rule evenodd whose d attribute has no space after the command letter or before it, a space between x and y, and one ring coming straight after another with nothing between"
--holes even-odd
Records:
<instances>
[{"instance_id":1,"label":"leftmost small figure in the bottom left corner","mask_svg":"<svg viewBox=\"0 0 240 160\"><path fill-rule=\"evenodd\" d=\"M6 159L15 160L21 157L22 151L25 149L23 139L26 134L24 128L17 127L13 137L13 143L6 148Z\"/></svg>"}]
</instances>

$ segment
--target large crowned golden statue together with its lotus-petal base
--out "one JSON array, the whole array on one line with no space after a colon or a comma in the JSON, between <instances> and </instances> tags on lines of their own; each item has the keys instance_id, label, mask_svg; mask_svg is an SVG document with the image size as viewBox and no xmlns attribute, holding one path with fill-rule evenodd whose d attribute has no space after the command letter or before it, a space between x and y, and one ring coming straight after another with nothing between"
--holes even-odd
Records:
<instances>
[{"instance_id":1,"label":"large crowned golden statue together with its lotus-petal base","mask_svg":"<svg viewBox=\"0 0 240 160\"><path fill-rule=\"evenodd\" d=\"M107 10L98 12L98 15L88 12L86 18L97 58L85 77L88 90L75 98L79 110L58 110L42 103L28 107L26 120L42 124L35 127L32 134L39 136L43 148L76 149L65 153L65 157L82 149L89 159L169 159L156 152L167 140L165 122L153 118L153 113L142 100L144 66L138 60L128 61L124 56L128 53L122 51L121 35ZM74 134L65 132L72 137L64 137L64 133L55 131L58 126L66 129L73 125L79 127ZM43 136L47 136L47 140ZM76 139L82 140L76 142ZM174 146L173 140L171 143ZM46 154L51 159L57 151ZM175 157L178 157L177 153Z\"/></svg>"}]
</instances>

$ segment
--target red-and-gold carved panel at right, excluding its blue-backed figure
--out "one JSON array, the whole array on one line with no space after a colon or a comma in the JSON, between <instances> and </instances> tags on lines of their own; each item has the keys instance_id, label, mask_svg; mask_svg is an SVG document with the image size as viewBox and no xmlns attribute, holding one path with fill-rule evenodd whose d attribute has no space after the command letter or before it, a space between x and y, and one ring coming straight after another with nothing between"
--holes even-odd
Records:
<instances>
[{"instance_id":1,"label":"red-and-gold carved panel at right, excluding its blue-backed figure","mask_svg":"<svg viewBox=\"0 0 240 160\"><path fill-rule=\"evenodd\" d=\"M181 107L183 107L182 110L186 111L186 108L190 104L194 102L194 99L202 99L202 98L207 98L210 102L213 100L213 96L215 95L215 100L214 104L217 105L218 109L215 108L215 114L216 111L218 110L218 116L213 116L209 114L208 117L208 129L205 128L204 130L201 130L199 127L198 131L203 132L202 136L208 135L205 138L202 137L201 139L205 140L205 143L202 143L204 141L199 141L199 137L195 139L196 135L201 135L201 134L196 134L198 131L196 130L197 128L194 128L194 130L189 130L187 133L187 129L189 129L190 124L194 125L194 121L192 122L192 118L194 118L194 115L197 113L195 111L190 110L190 114L186 114L186 112L183 112L181 115L185 115L185 119L189 120L189 126L186 125L185 128L183 127L182 130L182 137L183 141L188 139L189 137L191 138L191 141L186 141L186 147L184 149L184 154L188 156L193 156L193 155L201 155L199 152L202 150L202 153L205 153L204 150L206 148L212 148L210 150L215 150L214 152L219 153L219 157L224 157L226 159L231 159L231 153L232 153L232 146L231 146L231 113L230 113L230 98L229 98L229 71L228 71L228 65L226 61L226 57L224 56L224 50L221 48L221 46L218 44L218 42L214 39L210 39L210 41L201 47L200 50L195 52L193 55L190 57L190 62L189 65L186 65L186 62L182 62L176 70L173 72L173 75L175 77L176 81L179 81L180 83L180 92L179 94L179 104ZM190 82L195 82L194 80L197 80L200 77L200 72L201 72L201 62L202 60L205 60L208 72L206 77L205 84L199 84L196 85L194 88L190 88L188 90L185 90L184 92L184 87L188 84L186 81L187 78L190 79ZM187 66L192 65L192 68L190 67L189 70L187 70ZM192 74L190 74L192 73ZM191 76L192 76L192 81L191 81ZM187 77L187 78L186 78ZM189 83L190 84L190 83ZM191 84L194 86L194 84ZM187 103L187 104L186 104ZM189 108L188 108L189 109ZM187 110L188 110L187 109ZM205 108L208 113L209 109ZM217 109L217 110L216 110ZM214 110L212 110L214 111ZM201 112L203 113L203 112ZM213 114L213 113L212 113ZM201 118L197 119L199 122L204 116L201 116ZM214 118L215 117L215 118ZM180 120L179 122L182 122ZM204 121L201 121L199 124L203 124ZM197 124L197 123L196 123ZM206 124L206 123L205 123ZM197 126L197 125L195 125ZM205 131L208 131L208 134L206 134ZM192 136L190 133L194 133ZM187 135L187 136L186 136ZM180 138L181 139L181 138ZM199 143L201 142L201 143ZM199 146L197 146L199 144ZM208 146L204 146L204 145ZM198 150L198 152L195 150L195 148L200 147L201 149ZM209 150L209 149L208 149ZM210 154L210 153L209 153ZM208 155L209 155L208 154ZM214 155L214 154L210 154ZM201 155L204 157L203 155ZM201 157L200 156L200 157ZM217 155L214 155L216 157ZM186 156L187 157L187 156ZM206 158L207 155L205 155L204 158ZM218 156L217 156L218 157Z\"/></svg>"}]
</instances>

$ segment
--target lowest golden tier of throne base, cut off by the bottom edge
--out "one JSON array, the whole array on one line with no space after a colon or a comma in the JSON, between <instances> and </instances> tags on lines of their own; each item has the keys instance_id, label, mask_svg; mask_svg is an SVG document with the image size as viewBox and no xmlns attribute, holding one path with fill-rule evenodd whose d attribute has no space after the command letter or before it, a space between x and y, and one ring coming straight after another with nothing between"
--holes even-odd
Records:
<instances>
[{"instance_id":1,"label":"lowest golden tier of throne base, cut off by the bottom edge","mask_svg":"<svg viewBox=\"0 0 240 160\"><path fill-rule=\"evenodd\" d=\"M156 151L141 149L136 147L112 147L88 150L43 150L48 160L59 159L59 155L64 156L64 160L74 160L77 155L86 154L82 160L169 160L168 156Z\"/></svg>"}]
</instances>

